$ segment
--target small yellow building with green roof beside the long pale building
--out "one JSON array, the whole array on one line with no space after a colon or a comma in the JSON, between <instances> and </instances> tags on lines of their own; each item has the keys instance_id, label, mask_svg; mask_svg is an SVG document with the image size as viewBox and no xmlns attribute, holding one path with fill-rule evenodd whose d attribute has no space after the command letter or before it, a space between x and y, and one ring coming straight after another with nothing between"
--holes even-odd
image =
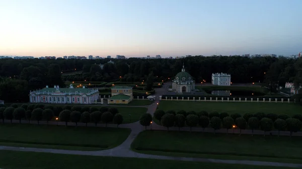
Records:
<instances>
[{"instance_id":1,"label":"small yellow building with green roof beside the long pale building","mask_svg":"<svg viewBox=\"0 0 302 169\"><path fill-rule=\"evenodd\" d=\"M115 86L111 88L108 104L128 104L131 100L133 100L132 87Z\"/></svg>"}]
</instances>

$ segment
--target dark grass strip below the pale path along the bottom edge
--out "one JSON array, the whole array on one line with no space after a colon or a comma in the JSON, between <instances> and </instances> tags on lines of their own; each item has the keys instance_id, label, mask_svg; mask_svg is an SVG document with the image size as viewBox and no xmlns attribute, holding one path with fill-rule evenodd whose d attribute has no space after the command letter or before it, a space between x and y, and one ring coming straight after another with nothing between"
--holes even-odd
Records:
<instances>
[{"instance_id":1,"label":"dark grass strip below the pale path along the bottom edge","mask_svg":"<svg viewBox=\"0 0 302 169\"><path fill-rule=\"evenodd\" d=\"M286 169L287 167L223 164L223 163L202 163L176 160L143 159L143 158L122 158L122 157L101 157L89 155L53 154L45 152L22 152L22 151L0 151L0 167L9 169Z\"/></svg>"}]
</instances>

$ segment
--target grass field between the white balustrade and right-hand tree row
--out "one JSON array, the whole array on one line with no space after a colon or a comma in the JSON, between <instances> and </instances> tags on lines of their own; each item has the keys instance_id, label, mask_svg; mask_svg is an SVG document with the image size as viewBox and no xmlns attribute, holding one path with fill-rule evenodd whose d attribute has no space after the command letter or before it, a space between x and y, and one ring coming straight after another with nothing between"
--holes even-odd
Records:
<instances>
[{"instance_id":1,"label":"grass field between the white balustrade and right-hand tree row","mask_svg":"<svg viewBox=\"0 0 302 169\"><path fill-rule=\"evenodd\" d=\"M293 103L257 103L257 102L197 102L197 101L161 101L158 109L168 110L185 110L185 111L201 111L207 112L217 111L228 113L246 112L256 113L276 113L276 114L293 114L302 113L302 106Z\"/></svg>"}]
</instances>

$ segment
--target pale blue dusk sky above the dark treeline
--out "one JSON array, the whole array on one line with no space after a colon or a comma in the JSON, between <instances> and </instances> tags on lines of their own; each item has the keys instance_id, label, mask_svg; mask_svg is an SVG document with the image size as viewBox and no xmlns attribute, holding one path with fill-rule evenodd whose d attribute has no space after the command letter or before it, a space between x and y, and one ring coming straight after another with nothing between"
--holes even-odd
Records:
<instances>
[{"instance_id":1,"label":"pale blue dusk sky above the dark treeline","mask_svg":"<svg viewBox=\"0 0 302 169\"><path fill-rule=\"evenodd\" d=\"M0 0L0 56L296 55L301 0Z\"/></svg>"}]
</instances>

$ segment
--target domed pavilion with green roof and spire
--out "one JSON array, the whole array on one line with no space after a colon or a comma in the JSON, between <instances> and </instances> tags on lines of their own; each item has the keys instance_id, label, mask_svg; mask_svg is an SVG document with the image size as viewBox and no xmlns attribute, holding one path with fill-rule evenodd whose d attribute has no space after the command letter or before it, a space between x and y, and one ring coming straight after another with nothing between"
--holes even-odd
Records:
<instances>
[{"instance_id":1,"label":"domed pavilion with green roof and spire","mask_svg":"<svg viewBox=\"0 0 302 169\"><path fill-rule=\"evenodd\" d=\"M181 72L179 72L172 81L172 90L177 93L189 93L195 90L195 81L192 76L186 72L185 66L183 66Z\"/></svg>"}]
</instances>

